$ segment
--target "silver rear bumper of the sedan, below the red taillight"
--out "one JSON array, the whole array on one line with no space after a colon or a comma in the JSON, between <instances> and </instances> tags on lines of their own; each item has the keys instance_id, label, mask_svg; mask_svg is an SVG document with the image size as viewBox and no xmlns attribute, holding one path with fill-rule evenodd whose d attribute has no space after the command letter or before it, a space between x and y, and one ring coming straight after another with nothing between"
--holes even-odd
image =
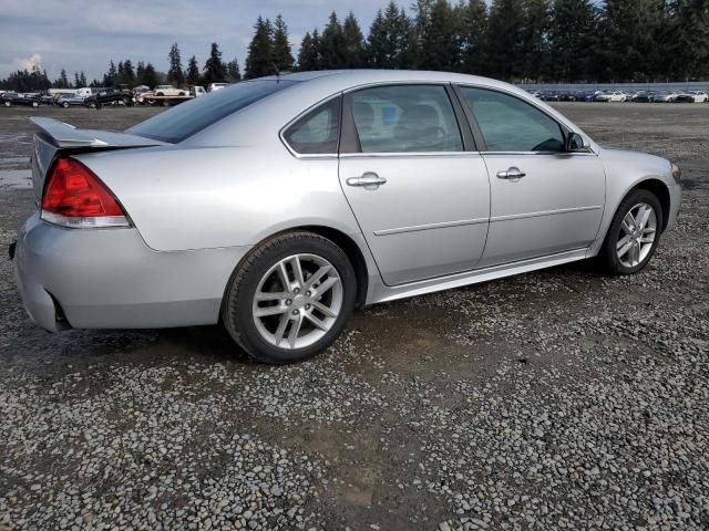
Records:
<instances>
[{"instance_id":1,"label":"silver rear bumper of the sedan, below the red taillight","mask_svg":"<svg viewBox=\"0 0 709 531\"><path fill-rule=\"evenodd\" d=\"M138 231L63 229L30 217L14 249L30 317L49 331L215 324L249 247L161 252Z\"/></svg>"}]
</instances>

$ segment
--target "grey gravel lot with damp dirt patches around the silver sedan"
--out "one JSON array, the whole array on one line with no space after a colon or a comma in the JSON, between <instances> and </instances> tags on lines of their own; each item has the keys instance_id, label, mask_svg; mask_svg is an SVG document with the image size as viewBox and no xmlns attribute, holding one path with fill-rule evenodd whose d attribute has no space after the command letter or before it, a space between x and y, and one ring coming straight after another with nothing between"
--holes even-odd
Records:
<instances>
[{"instance_id":1,"label":"grey gravel lot with damp dirt patches around the silver sedan","mask_svg":"<svg viewBox=\"0 0 709 531\"><path fill-rule=\"evenodd\" d=\"M359 312L271 368L217 327L70 331L0 258L0 530L708 529L709 105L558 105L676 160L648 269L557 268ZM31 126L150 108L0 108L0 246L34 208Z\"/></svg>"}]
</instances>

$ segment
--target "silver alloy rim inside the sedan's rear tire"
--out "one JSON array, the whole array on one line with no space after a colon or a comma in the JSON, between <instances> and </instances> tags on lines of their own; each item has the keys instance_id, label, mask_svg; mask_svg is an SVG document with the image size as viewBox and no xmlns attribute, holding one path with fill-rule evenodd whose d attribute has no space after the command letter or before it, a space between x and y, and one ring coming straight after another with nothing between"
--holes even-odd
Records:
<instances>
[{"instance_id":1,"label":"silver alloy rim inside the sedan's rear tire","mask_svg":"<svg viewBox=\"0 0 709 531\"><path fill-rule=\"evenodd\" d=\"M345 290L337 269L317 254L292 254L261 278L253 301L256 330L280 348L304 348L335 325Z\"/></svg>"}]
</instances>

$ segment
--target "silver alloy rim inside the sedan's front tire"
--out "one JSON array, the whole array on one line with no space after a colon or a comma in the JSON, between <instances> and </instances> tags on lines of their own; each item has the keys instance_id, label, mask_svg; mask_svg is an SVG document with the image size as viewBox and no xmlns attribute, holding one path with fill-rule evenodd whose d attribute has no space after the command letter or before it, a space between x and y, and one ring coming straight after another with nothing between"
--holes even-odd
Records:
<instances>
[{"instance_id":1,"label":"silver alloy rim inside the sedan's front tire","mask_svg":"<svg viewBox=\"0 0 709 531\"><path fill-rule=\"evenodd\" d=\"M626 268L635 268L643 263L653 249L656 235L655 209L646 202L634 206L623 218L618 232L618 261Z\"/></svg>"}]
</instances>

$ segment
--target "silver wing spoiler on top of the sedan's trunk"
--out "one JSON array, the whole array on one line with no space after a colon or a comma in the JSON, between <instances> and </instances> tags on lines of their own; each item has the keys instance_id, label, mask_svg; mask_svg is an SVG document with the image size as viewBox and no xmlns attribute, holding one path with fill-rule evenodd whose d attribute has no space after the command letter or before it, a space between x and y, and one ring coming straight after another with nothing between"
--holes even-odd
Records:
<instances>
[{"instance_id":1,"label":"silver wing spoiler on top of the sedan's trunk","mask_svg":"<svg viewBox=\"0 0 709 531\"><path fill-rule=\"evenodd\" d=\"M40 132L49 136L51 143L59 148L110 148L158 146L164 142L145 138L144 136L111 131L78 129L73 125L54 118L30 117Z\"/></svg>"}]
</instances>

